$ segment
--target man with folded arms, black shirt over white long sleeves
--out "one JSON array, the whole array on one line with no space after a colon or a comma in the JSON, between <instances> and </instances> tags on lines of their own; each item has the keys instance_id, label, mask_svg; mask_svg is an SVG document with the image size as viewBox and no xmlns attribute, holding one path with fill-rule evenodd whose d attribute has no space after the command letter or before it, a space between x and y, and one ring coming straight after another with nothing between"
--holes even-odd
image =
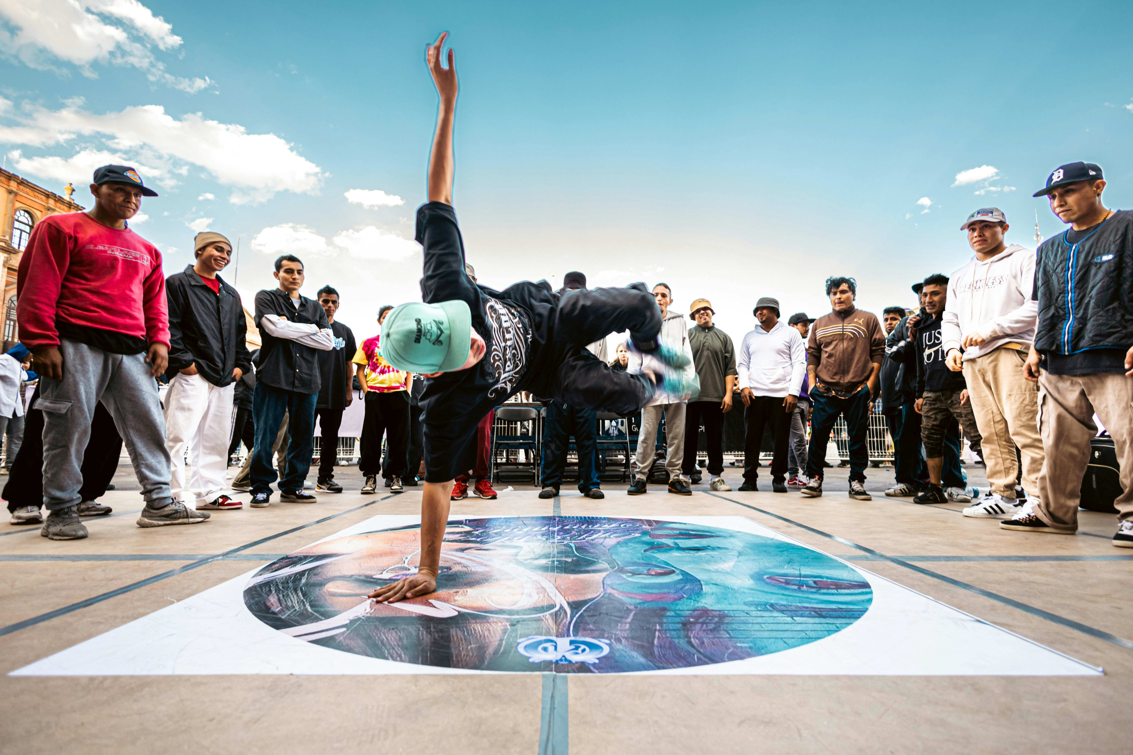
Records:
<instances>
[{"instance_id":1,"label":"man with folded arms, black shirt over white long sleeves","mask_svg":"<svg viewBox=\"0 0 1133 755\"><path fill-rule=\"evenodd\" d=\"M299 294L303 260L283 255L275 260L280 288L256 294L256 327L263 338L256 360L256 392L253 415L256 444L252 451L252 506L263 508L272 496L275 470L272 443L289 419L291 436L287 451L287 478L280 480L280 500L313 504L303 491L310 471L315 435L315 402L322 386L318 351L334 349L334 332L318 302Z\"/></svg>"}]
</instances>

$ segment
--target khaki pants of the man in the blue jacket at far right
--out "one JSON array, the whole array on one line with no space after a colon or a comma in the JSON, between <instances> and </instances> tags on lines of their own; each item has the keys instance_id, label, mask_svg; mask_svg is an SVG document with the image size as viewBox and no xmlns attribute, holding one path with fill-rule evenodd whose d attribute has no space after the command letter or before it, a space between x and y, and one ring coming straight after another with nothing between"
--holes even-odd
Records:
<instances>
[{"instance_id":1,"label":"khaki pants of the man in the blue jacket at far right","mask_svg":"<svg viewBox=\"0 0 1133 755\"><path fill-rule=\"evenodd\" d=\"M1082 477L1090 461L1097 413L1109 430L1121 467L1117 520L1133 520L1133 378L1124 375L1050 375L1039 378L1039 431L1050 449L1039 474L1036 515L1060 530L1077 529Z\"/></svg>"}]
</instances>

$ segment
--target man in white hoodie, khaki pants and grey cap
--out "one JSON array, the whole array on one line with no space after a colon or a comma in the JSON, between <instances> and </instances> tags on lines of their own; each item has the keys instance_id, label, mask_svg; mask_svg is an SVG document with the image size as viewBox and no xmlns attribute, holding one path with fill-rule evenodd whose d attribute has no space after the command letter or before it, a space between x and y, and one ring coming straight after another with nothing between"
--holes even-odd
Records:
<instances>
[{"instance_id":1,"label":"man in white hoodie, khaki pants and grey cap","mask_svg":"<svg viewBox=\"0 0 1133 755\"><path fill-rule=\"evenodd\" d=\"M991 489L964 509L964 516L1006 520L1022 501L1015 497L1019 461L1023 489L1039 495L1042 439L1039 437L1039 388L1023 376L1034 340L1038 302L1034 252L1003 240L1007 218L998 207L977 209L960 226L976 256L952 274L940 336L948 369L963 371Z\"/></svg>"}]
</instances>

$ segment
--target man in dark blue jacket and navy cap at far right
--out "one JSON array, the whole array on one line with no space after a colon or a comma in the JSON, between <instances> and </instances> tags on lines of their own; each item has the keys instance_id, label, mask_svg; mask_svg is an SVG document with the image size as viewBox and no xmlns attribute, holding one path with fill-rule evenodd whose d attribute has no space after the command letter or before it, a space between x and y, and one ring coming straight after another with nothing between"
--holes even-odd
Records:
<instances>
[{"instance_id":1,"label":"man in dark blue jacket and navy cap at far right","mask_svg":"<svg viewBox=\"0 0 1133 755\"><path fill-rule=\"evenodd\" d=\"M1106 209L1101 168L1070 163L1034 194L1046 196L1064 233L1039 247L1032 298L1034 348L1023 366L1041 387L1039 434L1047 449L1039 498L1004 530L1074 534L1082 475L1097 434L1094 413L1117 451L1122 490L1114 544L1133 548L1133 212ZM1053 453L1057 449L1057 453Z\"/></svg>"}]
</instances>

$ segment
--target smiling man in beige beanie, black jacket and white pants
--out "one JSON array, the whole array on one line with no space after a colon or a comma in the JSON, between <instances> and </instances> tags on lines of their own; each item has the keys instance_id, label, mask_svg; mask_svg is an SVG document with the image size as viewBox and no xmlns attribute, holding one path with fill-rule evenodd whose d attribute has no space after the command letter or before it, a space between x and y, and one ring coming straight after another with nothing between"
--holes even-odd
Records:
<instances>
[{"instance_id":1,"label":"smiling man in beige beanie, black jacket and white pants","mask_svg":"<svg viewBox=\"0 0 1133 755\"><path fill-rule=\"evenodd\" d=\"M172 463L170 489L185 488L185 446L193 456L189 492L196 508L242 508L225 488L229 432L236 381L252 369L245 343L247 323L236 289L218 273L232 244L204 231L193 241L196 263L165 280L169 304L169 391L165 393L165 448Z\"/></svg>"}]
</instances>

